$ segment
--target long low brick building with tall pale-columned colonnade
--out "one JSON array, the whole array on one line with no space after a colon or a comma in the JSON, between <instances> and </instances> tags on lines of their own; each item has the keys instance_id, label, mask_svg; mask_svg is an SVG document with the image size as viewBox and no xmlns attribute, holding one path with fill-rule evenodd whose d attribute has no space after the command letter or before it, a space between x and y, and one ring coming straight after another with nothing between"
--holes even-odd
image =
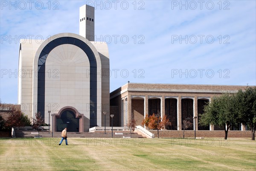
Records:
<instances>
[{"instance_id":1,"label":"long low brick building with tall pale-columned colonnade","mask_svg":"<svg viewBox=\"0 0 256 171\"><path fill-rule=\"evenodd\" d=\"M161 116L167 115L172 125L168 130L182 130L182 121L192 119L191 130L224 130L218 125L207 127L198 125L204 105L214 96L223 93L236 93L246 86L230 85L192 85L192 84L141 84L128 83L110 94L111 114L114 114L114 126L125 126L133 117L137 125L142 125L146 114L160 111ZM198 117L199 116L199 117ZM246 130L237 123L233 130Z\"/></svg>"}]
</instances>

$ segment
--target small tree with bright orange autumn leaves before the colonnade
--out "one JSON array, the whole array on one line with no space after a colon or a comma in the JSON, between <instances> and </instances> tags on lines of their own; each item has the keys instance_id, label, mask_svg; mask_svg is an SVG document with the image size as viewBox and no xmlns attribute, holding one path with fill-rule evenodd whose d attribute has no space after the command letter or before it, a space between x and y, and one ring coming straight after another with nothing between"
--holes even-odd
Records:
<instances>
[{"instance_id":1,"label":"small tree with bright orange autumn leaves before the colonnade","mask_svg":"<svg viewBox=\"0 0 256 171\"><path fill-rule=\"evenodd\" d=\"M142 124L149 129L156 129L157 137L159 138L159 130L165 128L167 125L171 125L171 122L166 115L163 117L163 119L161 119L160 112L158 112L157 115L155 115L154 113L149 117L148 115L146 115L145 119L143 119Z\"/></svg>"}]
</instances>

